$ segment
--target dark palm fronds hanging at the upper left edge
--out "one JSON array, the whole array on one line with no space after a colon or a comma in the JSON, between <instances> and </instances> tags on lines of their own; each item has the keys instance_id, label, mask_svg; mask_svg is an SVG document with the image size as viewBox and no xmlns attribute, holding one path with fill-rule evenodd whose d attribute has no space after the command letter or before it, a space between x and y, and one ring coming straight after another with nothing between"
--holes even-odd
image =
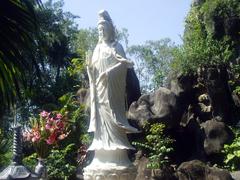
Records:
<instances>
[{"instance_id":1,"label":"dark palm fronds hanging at the upper left edge","mask_svg":"<svg viewBox=\"0 0 240 180\"><path fill-rule=\"evenodd\" d=\"M35 5L41 1L0 1L0 101L3 108L13 104L20 88L26 86L25 72L36 67L34 59L23 52L36 46L34 34L38 29Z\"/></svg>"}]
</instances>

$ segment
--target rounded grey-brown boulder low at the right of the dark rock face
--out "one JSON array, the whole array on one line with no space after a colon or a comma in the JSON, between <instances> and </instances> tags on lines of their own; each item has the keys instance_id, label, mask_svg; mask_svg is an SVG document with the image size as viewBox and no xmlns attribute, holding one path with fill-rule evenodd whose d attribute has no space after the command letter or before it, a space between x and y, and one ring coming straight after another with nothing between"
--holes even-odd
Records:
<instances>
[{"instance_id":1,"label":"rounded grey-brown boulder low at the right of the dark rock face","mask_svg":"<svg viewBox=\"0 0 240 180\"><path fill-rule=\"evenodd\" d=\"M204 151L207 155L219 153L224 144L230 143L233 133L223 122L216 119L201 124L204 130Z\"/></svg>"}]
</instances>

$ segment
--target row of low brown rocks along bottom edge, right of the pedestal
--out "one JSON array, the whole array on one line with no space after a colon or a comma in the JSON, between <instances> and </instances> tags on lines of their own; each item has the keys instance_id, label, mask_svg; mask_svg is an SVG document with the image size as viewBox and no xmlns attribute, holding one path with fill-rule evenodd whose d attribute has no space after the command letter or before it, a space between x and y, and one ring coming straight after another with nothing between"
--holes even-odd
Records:
<instances>
[{"instance_id":1,"label":"row of low brown rocks along bottom edge, right of the pedestal","mask_svg":"<svg viewBox=\"0 0 240 180\"><path fill-rule=\"evenodd\" d=\"M181 163L178 168L147 169L148 159L141 157L135 164L138 174L135 180L234 180L231 174L217 167L210 167L199 160ZM232 173L234 178L239 173Z\"/></svg>"}]
</instances>

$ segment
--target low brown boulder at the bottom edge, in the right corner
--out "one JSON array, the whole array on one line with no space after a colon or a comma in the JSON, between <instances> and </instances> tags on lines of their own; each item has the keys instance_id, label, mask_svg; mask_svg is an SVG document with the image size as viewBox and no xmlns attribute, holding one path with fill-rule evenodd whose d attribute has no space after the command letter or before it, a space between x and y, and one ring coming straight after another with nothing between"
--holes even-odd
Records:
<instances>
[{"instance_id":1,"label":"low brown boulder at the bottom edge, in the right corner","mask_svg":"<svg viewBox=\"0 0 240 180\"><path fill-rule=\"evenodd\" d=\"M209 167L199 160L182 163L176 172L179 180L233 180L230 173L216 167Z\"/></svg>"}]
</instances>

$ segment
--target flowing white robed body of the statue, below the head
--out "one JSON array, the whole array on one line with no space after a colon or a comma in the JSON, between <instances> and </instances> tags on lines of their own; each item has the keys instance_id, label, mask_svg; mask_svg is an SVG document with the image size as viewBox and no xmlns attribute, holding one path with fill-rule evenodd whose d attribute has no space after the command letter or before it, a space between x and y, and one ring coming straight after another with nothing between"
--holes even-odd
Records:
<instances>
[{"instance_id":1,"label":"flowing white robed body of the statue, below the head","mask_svg":"<svg viewBox=\"0 0 240 180\"><path fill-rule=\"evenodd\" d=\"M98 44L88 68L91 115L89 132L94 139L89 150L134 149L126 133L138 132L129 125L125 111L127 68L121 44Z\"/></svg>"}]
</instances>

